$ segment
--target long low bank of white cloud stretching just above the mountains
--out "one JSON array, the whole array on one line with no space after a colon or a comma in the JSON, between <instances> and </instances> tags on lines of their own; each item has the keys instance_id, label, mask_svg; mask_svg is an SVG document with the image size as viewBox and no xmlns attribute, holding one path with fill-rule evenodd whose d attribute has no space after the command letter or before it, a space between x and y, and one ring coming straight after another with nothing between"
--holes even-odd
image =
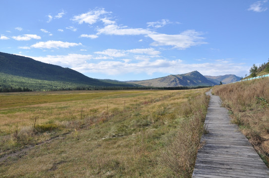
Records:
<instances>
[{"instance_id":1,"label":"long low bank of white cloud stretching just above the mountains","mask_svg":"<svg viewBox=\"0 0 269 178\"><path fill-rule=\"evenodd\" d=\"M103 54L111 56L123 55L126 51L121 50L105 50ZM119 53L119 54L118 54ZM121 54L123 53L123 54ZM98 54L98 53L97 53ZM248 66L244 63L234 63L230 59L212 60L212 63L197 63L187 64L183 60L175 59L152 59L148 56L138 56L137 60L121 59L121 60L109 60L113 59L111 56L94 56L94 55L82 55L82 54L67 54L67 55L47 55L45 57L31 57L35 60L60 65L63 67L70 67L81 73L96 73L105 74L108 76L123 76L125 74L145 74L152 75L154 73L163 73L163 76L170 74L184 74L191 71L199 71L202 75L225 75L235 74L240 76L242 73L248 73ZM140 58L139 58L140 57ZM136 56L135 56L136 58ZM107 59L106 61L100 61L93 63L92 59ZM131 80L131 79L125 79ZM132 79L134 80L134 78Z\"/></svg>"}]
</instances>

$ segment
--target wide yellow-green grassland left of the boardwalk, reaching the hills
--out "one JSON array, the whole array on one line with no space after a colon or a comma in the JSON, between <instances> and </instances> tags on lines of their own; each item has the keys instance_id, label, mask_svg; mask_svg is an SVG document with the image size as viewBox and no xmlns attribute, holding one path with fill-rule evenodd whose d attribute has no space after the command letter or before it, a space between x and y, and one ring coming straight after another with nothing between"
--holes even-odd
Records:
<instances>
[{"instance_id":1,"label":"wide yellow-green grassland left of the boardwalk, reaching the hills","mask_svg":"<svg viewBox=\"0 0 269 178\"><path fill-rule=\"evenodd\" d=\"M0 177L191 177L206 90L1 93Z\"/></svg>"}]
</instances>

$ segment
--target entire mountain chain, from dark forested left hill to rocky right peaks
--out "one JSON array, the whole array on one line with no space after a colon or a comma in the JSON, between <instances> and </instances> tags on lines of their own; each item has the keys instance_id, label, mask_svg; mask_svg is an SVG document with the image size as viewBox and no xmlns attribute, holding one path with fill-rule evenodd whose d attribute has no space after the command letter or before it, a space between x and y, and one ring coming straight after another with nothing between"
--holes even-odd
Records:
<instances>
[{"instance_id":1,"label":"entire mountain chain, from dark forested left hill to rocky right peaks","mask_svg":"<svg viewBox=\"0 0 269 178\"><path fill-rule=\"evenodd\" d=\"M121 82L87 77L77 71L36 61L29 57L0 52L0 89L33 90L132 88L132 87L197 87L213 86L240 80L235 75L203 76L198 71L169 75L151 80Z\"/></svg>"}]
</instances>

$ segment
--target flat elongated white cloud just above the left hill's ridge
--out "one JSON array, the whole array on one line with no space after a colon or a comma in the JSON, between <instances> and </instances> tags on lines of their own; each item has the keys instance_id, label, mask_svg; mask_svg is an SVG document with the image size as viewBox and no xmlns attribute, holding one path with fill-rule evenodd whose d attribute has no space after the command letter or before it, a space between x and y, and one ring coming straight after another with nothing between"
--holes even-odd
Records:
<instances>
[{"instance_id":1,"label":"flat elongated white cloud just above the left hill's ridge","mask_svg":"<svg viewBox=\"0 0 269 178\"><path fill-rule=\"evenodd\" d=\"M59 48L59 47L73 47L73 46L78 46L82 45L81 43L69 43L69 42L61 42L61 41L47 41L47 42L38 42L34 45L31 45L31 47L34 48Z\"/></svg>"}]
</instances>

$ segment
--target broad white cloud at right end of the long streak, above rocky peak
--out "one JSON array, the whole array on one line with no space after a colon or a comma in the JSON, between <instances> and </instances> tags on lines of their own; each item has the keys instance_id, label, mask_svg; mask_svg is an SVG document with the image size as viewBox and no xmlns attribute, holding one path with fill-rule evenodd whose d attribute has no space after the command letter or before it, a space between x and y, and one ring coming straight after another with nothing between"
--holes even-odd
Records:
<instances>
[{"instance_id":1,"label":"broad white cloud at right end of the long streak, above rocky peak","mask_svg":"<svg viewBox=\"0 0 269 178\"><path fill-rule=\"evenodd\" d=\"M155 41L151 44L153 46L171 45L174 48L186 49L191 46L206 44L202 41L204 38L200 37L201 35L201 32L187 30L179 35L148 34L148 37Z\"/></svg>"}]
</instances>

